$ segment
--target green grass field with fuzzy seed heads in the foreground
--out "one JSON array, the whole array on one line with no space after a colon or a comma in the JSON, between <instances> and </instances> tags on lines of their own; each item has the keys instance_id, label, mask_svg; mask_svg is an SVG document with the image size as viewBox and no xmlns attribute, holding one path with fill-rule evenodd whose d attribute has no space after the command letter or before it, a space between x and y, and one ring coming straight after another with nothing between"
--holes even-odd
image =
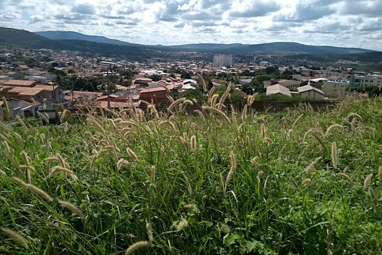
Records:
<instances>
[{"instance_id":1,"label":"green grass field with fuzzy seed heads in the foreground","mask_svg":"<svg viewBox=\"0 0 382 255\"><path fill-rule=\"evenodd\" d=\"M0 253L381 254L381 98L187 103L2 125Z\"/></svg>"}]
</instances>

